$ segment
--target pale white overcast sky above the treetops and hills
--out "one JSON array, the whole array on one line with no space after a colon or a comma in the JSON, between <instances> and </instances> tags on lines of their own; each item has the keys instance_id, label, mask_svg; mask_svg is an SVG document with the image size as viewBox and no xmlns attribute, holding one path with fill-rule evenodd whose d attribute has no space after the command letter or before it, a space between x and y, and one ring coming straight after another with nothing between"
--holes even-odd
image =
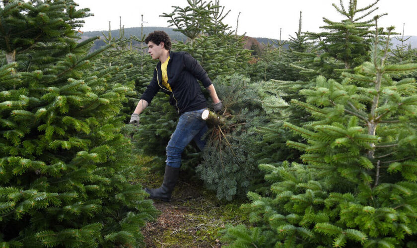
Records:
<instances>
[{"instance_id":1,"label":"pale white overcast sky above the treetops and hills","mask_svg":"<svg viewBox=\"0 0 417 248\"><path fill-rule=\"evenodd\" d=\"M348 0L343 0L345 6ZM171 13L172 6L185 7L187 0L78 0L80 7L88 7L94 16L85 19L81 31L108 30L109 21L112 29L119 27L119 16L122 25L140 27L143 14L143 26L167 27L168 18L159 17L163 12ZM220 0L225 10L231 10L225 18L233 30L239 12L238 34L246 32L251 37L279 38L279 29L282 28L282 39L288 39L298 30L299 12L302 11L302 31L319 31L323 17L332 21L342 20L332 3L340 4L340 0ZM358 7L362 8L374 0L358 0ZM380 0L379 9L371 14L388 13L380 20L380 26L395 26L396 31L402 33L403 23L405 35L417 35L417 21L415 13L417 0Z\"/></svg>"}]
</instances>

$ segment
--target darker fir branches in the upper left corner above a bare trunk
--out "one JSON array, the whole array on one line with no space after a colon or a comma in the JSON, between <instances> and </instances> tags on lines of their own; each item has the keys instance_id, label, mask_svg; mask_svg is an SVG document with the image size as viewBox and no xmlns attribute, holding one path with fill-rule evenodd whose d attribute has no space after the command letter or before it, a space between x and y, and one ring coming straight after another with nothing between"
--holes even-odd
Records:
<instances>
[{"instance_id":1,"label":"darker fir branches in the upper left corner above a bare trunk","mask_svg":"<svg viewBox=\"0 0 417 248\"><path fill-rule=\"evenodd\" d=\"M3 3L0 16L2 18L0 50L4 51L8 62L14 62L15 57L25 54L25 63L20 66L29 67L31 63L38 65L56 61L62 56L63 51L69 52L70 47L76 46L71 42L75 38L75 32L67 32L71 28L77 28L84 21L82 17L91 14L89 9L76 9L73 1L41 1L24 2L10 0ZM37 50L31 48L37 47ZM32 53L28 52L30 50ZM48 56L40 57L36 52L50 52Z\"/></svg>"}]
</instances>

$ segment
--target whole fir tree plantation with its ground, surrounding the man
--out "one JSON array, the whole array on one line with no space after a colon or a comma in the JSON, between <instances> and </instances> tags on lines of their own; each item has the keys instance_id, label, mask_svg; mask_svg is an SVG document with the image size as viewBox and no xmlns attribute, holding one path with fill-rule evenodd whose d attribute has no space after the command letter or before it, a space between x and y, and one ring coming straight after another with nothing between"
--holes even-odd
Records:
<instances>
[{"instance_id":1,"label":"whole fir tree plantation with its ground, surrounding the man","mask_svg":"<svg viewBox=\"0 0 417 248\"><path fill-rule=\"evenodd\" d=\"M300 12L250 49L217 2L161 13L223 104L162 202L144 188L179 115L158 93L128 124L156 65L145 36L81 39L76 0L2 0L1 247L416 248L417 49L378 2L341 0L317 33Z\"/></svg>"}]
</instances>

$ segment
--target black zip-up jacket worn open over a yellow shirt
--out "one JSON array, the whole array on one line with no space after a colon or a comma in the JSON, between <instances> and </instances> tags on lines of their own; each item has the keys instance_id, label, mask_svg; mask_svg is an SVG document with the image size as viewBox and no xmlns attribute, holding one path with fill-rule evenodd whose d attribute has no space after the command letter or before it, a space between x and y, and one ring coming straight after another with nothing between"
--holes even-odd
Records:
<instances>
[{"instance_id":1,"label":"black zip-up jacket worn open over a yellow shirt","mask_svg":"<svg viewBox=\"0 0 417 248\"><path fill-rule=\"evenodd\" d=\"M211 81L207 72L186 52L169 52L169 57L166 71L172 92L162 85L161 62L158 62L152 80L140 99L150 104L156 93L162 90L169 95L169 103L177 109L178 114L207 108L206 98L197 82L199 79L205 88L209 87Z\"/></svg>"}]
</instances>

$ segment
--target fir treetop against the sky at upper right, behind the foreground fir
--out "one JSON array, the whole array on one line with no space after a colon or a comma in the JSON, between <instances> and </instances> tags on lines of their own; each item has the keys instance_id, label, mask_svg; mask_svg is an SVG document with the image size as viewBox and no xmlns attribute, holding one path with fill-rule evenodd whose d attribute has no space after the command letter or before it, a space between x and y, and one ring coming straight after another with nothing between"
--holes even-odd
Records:
<instances>
[{"instance_id":1,"label":"fir treetop against the sky at upper right, behind the foreground fir","mask_svg":"<svg viewBox=\"0 0 417 248\"><path fill-rule=\"evenodd\" d=\"M313 50L305 54L305 69L313 75L323 75L326 78L339 78L344 71L352 69L369 59L369 44L371 42L372 18L369 15L376 11L375 5L379 0L358 7L357 0L349 0L345 7L343 0L340 5L333 3L336 11L344 18L342 21L331 21L323 17L326 23L319 33L307 32L310 40L316 43Z\"/></svg>"}]
</instances>

